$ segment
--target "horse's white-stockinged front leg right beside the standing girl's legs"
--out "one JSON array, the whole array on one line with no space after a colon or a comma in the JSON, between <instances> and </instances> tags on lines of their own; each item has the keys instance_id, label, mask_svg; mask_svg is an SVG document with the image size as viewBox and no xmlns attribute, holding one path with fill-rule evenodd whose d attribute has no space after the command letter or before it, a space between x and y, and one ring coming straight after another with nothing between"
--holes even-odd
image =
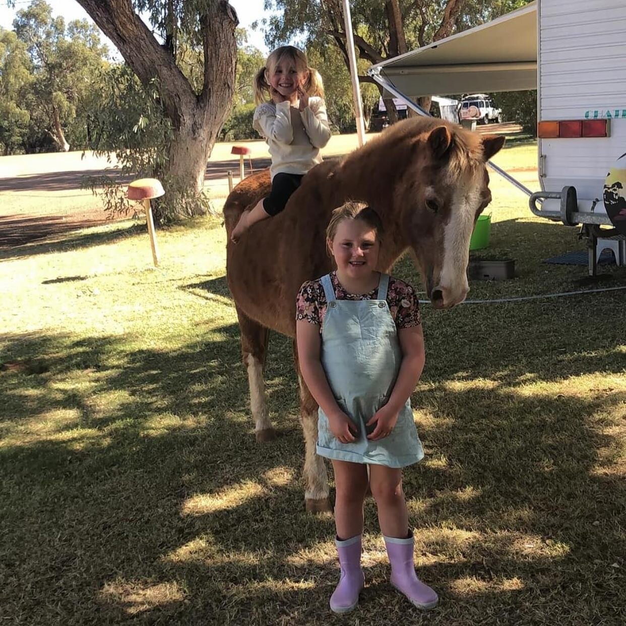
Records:
<instances>
[{"instance_id":1,"label":"horse's white-stockinged front leg right beside the standing girl's legs","mask_svg":"<svg viewBox=\"0 0 626 626\"><path fill-rule=\"evenodd\" d=\"M304 384L300 381L300 419L304 431L304 480L306 491L304 501L309 513L332 511L328 494L328 475L324 459L316 453L317 442L317 403Z\"/></svg>"}]
</instances>

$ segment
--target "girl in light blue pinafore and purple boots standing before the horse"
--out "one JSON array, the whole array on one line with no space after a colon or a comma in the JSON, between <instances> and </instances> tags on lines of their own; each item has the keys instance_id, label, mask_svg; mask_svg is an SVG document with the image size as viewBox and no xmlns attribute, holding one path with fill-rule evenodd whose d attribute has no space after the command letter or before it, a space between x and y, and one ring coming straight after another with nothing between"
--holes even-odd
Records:
<instances>
[{"instance_id":1,"label":"girl in light blue pinafore and purple boots standing before the horse","mask_svg":"<svg viewBox=\"0 0 626 626\"><path fill-rule=\"evenodd\" d=\"M335 613L356 607L364 585L368 465L391 584L416 607L438 602L415 573L402 488L402 468L424 456L409 401L424 367L421 318L413 288L376 271L382 234L372 208L348 202L334 210L326 235L337 269L305 282L297 297L300 371L319 404L317 454L331 459L335 474Z\"/></svg>"}]
</instances>

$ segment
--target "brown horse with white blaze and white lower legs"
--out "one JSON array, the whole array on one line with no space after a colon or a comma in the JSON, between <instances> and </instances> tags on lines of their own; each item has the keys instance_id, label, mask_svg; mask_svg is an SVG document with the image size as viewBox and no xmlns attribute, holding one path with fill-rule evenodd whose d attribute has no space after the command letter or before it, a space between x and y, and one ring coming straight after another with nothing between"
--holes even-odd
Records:
<instances>
[{"instance_id":1,"label":"brown horse with white blaze and white lower legs","mask_svg":"<svg viewBox=\"0 0 626 626\"><path fill-rule=\"evenodd\" d=\"M332 210L346 200L376 208L385 228L379 269L387 271L411 250L433 306L451 307L468 292L469 238L491 201L485 162L503 143L504 137L481 137L433 118L405 120L346 157L310 170L282 213L233 245L230 232L242 211L269 193L269 173L237 185L224 207L227 280L239 317L257 441L274 436L263 381L268 332L295 337L300 285L332 269L325 242ZM326 466L315 452L317 404L301 377L300 414L306 507L330 510Z\"/></svg>"}]
</instances>

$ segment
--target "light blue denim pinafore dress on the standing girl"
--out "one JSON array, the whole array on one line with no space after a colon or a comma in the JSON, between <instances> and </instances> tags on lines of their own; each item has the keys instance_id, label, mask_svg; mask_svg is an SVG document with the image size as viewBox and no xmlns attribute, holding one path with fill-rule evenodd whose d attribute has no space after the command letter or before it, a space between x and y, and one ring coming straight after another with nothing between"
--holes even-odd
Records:
<instances>
[{"instance_id":1,"label":"light blue denim pinafore dress on the standing girl","mask_svg":"<svg viewBox=\"0 0 626 626\"><path fill-rule=\"evenodd\" d=\"M330 275L322 277L327 309L320 359L337 404L359 429L352 443L341 443L319 409L317 454L329 459L401 468L424 456L410 400L389 436L370 441L365 424L386 402L398 377L402 352L387 304L389 275L381 274L376 300L337 300Z\"/></svg>"}]
</instances>

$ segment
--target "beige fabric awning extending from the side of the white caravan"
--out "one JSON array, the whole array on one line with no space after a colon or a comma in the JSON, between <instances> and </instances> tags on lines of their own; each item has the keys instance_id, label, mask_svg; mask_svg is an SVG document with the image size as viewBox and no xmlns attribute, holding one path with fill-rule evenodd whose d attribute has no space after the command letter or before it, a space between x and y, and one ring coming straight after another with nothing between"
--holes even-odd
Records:
<instances>
[{"instance_id":1,"label":"beige fabric awning extending from the side of the white caravan","mask_svg":"<svg viewBox=\"0 0 626 626\"><path fill-rule=\"evenodd\" d=\"M372 65L411 98L537 86L536 1L481 26Z\"/></svg>"}]
</instances>

